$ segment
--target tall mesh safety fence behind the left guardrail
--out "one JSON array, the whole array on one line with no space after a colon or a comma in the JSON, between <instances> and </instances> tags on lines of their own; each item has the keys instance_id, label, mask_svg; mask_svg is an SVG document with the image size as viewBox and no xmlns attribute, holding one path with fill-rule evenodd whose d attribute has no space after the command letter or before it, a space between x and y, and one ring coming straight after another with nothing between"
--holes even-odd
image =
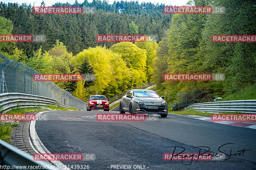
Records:
<instances>
[{"instance_id":1,"label":"tall mesh safety fence behind the left guardrail","mask_svg":"<svg viewBox=\"0 0 256 170\"><path fill-rule=\"evenodd\" d=\"M86 103L59 88L52 81L34 81L39 73L20 62L10 60L0 53L0 93L25 93L55 99L61 104L86 109Z\"/></svg>"}]
</instances>

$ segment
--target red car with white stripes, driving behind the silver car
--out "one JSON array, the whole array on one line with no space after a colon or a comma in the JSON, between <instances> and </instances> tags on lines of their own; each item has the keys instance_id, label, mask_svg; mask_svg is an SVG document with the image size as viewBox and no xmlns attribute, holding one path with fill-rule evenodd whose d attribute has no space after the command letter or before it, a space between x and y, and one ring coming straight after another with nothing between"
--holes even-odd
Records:
<instances>
[{"instance_id":1,"label":"red car with white stripes, driving behind the silver car","mask_svg":"<svg viewBox=\"0 0 256 170\"><path fill-rule=\"evenodd\" d=\"M104 110L109 111L109 102L104 95L92 95L87 100L87 111L93 110Z\"/></svg>"}]
</instances>

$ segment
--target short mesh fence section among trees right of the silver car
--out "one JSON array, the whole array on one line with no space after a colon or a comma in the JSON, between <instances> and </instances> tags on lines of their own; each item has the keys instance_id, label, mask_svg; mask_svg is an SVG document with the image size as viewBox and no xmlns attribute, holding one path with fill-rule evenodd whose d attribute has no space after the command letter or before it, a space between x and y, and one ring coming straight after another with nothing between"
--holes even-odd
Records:
<instances>
[{"instance_id":1,"label":"short mesh fence section among trees right of the silver car","mask_svg":"<svg viewBox=\"0 0 256 170\"><path fill-rule=\"evenodd\" d=\"M201 90L196 89L189 92L178 93L178 103L174 103L172 110L177 110L186 107L190 103L201 102Z\"/></svg>"}]
</instances>

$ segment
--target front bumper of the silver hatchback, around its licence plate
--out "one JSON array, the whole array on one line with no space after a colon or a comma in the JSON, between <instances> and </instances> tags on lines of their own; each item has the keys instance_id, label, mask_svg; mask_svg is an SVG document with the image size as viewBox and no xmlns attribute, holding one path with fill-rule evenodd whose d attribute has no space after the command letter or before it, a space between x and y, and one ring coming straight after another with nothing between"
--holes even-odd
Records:
<instances>
[{"instance_id":1,"label":"front bumper of the silver hatchback, around its licence plate","mask_svg":"<svg viewBox=\"0 0 256 170\"><path fill-rule=\"evenodd\" d=\"M156 106L156 105L140 105L140 106L132 106L133 113L147 113L147 114L168 114L168 105L159 106L158 109L148 109L148 106Z\"/></svg>"}]
</instances>

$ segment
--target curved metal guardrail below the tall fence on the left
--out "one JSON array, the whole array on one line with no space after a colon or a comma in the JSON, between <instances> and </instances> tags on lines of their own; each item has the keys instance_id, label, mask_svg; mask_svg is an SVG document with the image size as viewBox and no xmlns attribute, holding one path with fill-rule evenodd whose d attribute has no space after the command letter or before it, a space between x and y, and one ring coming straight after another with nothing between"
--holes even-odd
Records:
<instances>
[{"instance_id":1,"label":"curved metal guardrail below the tall fence on the left","mask_svg":"<svg viewBox=\"0 0 256 170\"><path fill-rule=\"evenodd\" d=\"M29 95L24 93L2 93L0 94L0 108L1 108L0 112L4 113L8 110L16 108L18 102L21 108L36 107L36 105L40 105L40 106L55 105L62 108L70 108L70 106L60 104L56 100L49 97Z\"/></svg>"}]
</instances>

